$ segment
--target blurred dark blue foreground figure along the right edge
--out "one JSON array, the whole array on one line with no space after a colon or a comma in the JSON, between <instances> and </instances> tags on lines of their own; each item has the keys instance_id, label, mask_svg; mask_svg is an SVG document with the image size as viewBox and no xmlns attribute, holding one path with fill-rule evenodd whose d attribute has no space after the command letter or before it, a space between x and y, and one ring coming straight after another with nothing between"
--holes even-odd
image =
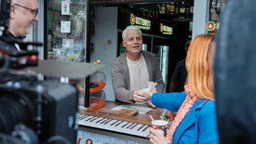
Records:
<instances>
[{"instance_id":1,"label":"blurred dark blue foreground figure along the right edge","mask_svg":"<svg viewBox=\"0 0 256 144\"><path fill-rule=\"evenodd\" d=\"M231 0L222 12L214 59L220 144L256 143L255 6Z\"/></svg>"}]
</instances>

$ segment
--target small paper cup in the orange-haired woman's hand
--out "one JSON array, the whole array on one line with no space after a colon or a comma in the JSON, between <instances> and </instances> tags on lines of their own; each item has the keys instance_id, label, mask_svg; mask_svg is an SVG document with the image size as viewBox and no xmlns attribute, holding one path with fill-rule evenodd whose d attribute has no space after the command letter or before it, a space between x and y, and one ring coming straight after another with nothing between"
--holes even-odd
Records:
<instances>
[{"instance_id":1,"label":"small paper cup in the orange-haired woman's hand","mask_svg":"<svg viewBox=\"0 0 256 144\"><path fill-rule=\"evenodd\" d=\"M163 120L155 120L151 122L152 127L157 130L160 134L167 137L168 122Z\"/></svg>"}]
</instances>

